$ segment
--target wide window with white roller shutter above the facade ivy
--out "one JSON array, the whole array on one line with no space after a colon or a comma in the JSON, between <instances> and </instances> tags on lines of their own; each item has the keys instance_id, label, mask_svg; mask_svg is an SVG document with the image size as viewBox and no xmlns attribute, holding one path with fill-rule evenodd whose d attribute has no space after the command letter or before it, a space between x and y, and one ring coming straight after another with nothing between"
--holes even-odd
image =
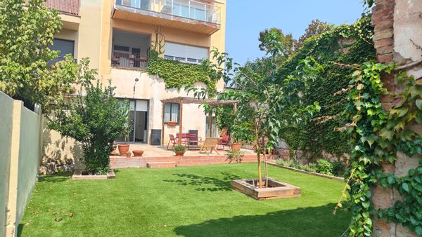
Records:
<instances>
[{"instance_id":1,"label":"wide window with white roller shutter above the facade ivy","mask_svg":"<svg viewBox=\"0 0 422 237\"><path fill-rule=\"evenodd\" d=\"M165 42L165 59L200 64L208 58L208 48Z\"/></svg>"}]
</instances>

